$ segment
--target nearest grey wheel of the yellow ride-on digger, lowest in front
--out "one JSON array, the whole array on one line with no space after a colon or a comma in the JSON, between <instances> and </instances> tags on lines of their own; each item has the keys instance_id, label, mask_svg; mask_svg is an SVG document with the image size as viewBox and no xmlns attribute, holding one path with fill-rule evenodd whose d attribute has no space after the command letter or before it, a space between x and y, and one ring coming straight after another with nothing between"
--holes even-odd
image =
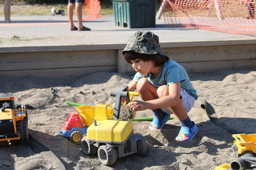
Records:
<instances>
[{"instance_id":1,"label":"nearest grey wheel of the yellow ride-on digger, lowest in front","mask_svg":"<svg viewBox=\"0 0 256 170\"><path fill-rule=\"evenodd\" d=\"M100 162L106 166L115 164L118 159L118 153L116 148L112 148L108 145L102 145L98 149L98 157Z\"/></svg>"}]
</instances>

